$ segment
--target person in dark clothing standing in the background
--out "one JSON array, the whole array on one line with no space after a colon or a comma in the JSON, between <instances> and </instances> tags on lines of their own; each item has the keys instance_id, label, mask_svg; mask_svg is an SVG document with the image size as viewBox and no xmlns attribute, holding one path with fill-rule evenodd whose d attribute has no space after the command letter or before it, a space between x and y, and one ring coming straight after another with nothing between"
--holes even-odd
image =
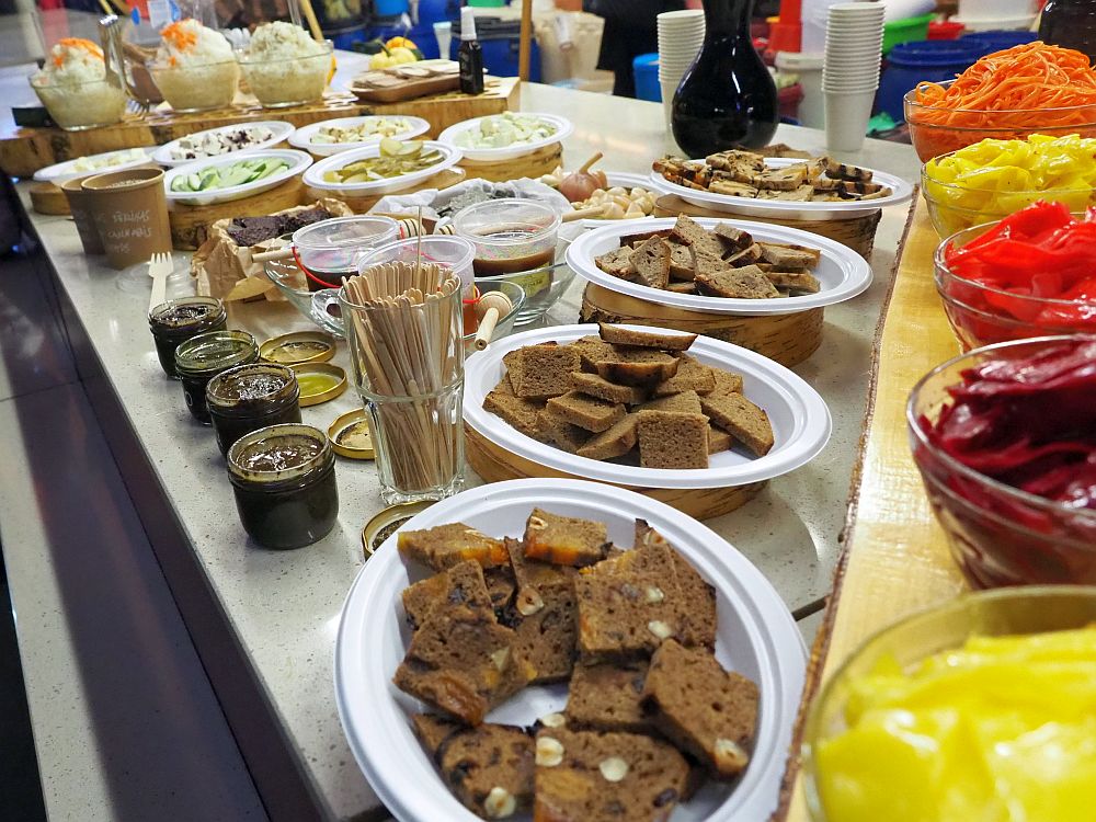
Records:
<instances>
[{"instance_id":1,"label":"person in dark clothing standing in the background","mask_svg":"<svg viewBox=\"0 0 1096 822\"><path fill-rule=\"evenodd\" d=\"M684 8L685 0L583 0L583 11L605 19L597 68L613 72L614 94L636 96L631 61L659 50L659 14Z\"/></svg>"}]
</instances>

